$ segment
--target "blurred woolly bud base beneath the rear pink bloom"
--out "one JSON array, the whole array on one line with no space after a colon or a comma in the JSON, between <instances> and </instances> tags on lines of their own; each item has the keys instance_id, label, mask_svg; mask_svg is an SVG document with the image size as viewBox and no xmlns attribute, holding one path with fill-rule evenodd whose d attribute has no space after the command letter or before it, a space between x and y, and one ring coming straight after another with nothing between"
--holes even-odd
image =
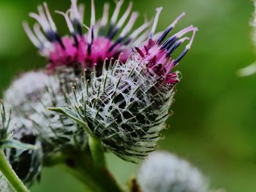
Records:
<instances>
[{"instance_id":1,"label":"blurred woolly bud base beneath the rear pink bloom","mask_svg":"<svg viewBox=\"0 0 256 192\"><path fill-rule=\"evenodd\" d=\"M47 155L74 147L83 150L87 145L87 134L78 123L48 110L48 107L69 105L66 93L71 79L75 80L75 74L68 69L59 76L49 76L44 93L33 106L34 113L29 115L38 137L45 144L44 150Z\"/></svg>"}]
</instances>

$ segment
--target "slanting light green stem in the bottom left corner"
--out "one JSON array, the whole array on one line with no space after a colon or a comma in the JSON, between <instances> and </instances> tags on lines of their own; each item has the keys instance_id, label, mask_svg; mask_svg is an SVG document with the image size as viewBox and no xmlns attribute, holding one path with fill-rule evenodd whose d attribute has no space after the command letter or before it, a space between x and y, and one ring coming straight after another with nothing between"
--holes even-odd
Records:
<instances>
[{"instance_id":1,"label":"slanting light green stem in the bottom left corner","mask_svg":"<svg viewBox=\"0 0 256 192\"><path fill-rule=\"evenodd\" d=\"M4 151L0 150L0 171L8 180L12 188L17 192L29 192L26 186L20 181L17 174L13 171L12 166L7 161Z\"/></svg>"}]
</instances>

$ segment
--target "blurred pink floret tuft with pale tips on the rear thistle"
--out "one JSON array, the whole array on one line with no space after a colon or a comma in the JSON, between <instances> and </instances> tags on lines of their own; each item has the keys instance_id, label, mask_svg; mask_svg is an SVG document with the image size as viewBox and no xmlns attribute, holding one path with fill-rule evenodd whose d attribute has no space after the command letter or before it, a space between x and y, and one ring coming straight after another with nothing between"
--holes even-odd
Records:
<instances>
[{"instance_id":1,"label":"blurred pink floret tuft with pale tips on the rear thistle","mask_svg":"<svg viewBox=\"0 0 256 192\"><path fill-rule=\"evenodd\" d=\"M131 32L132 26L138 18L137 12L132 12L129 18L132 3L129 3L124 15L118 20L124 0L117 1L116 9L110 21L108 20L110 5L105 3L102 18L96 22L94 0L92 0L91 26L86 26L89 31L84 34L84 7L83 5L78 6L77 0L71 2L71 7L67 12L56 11L64 16L71 37L59 36L47 4L38 7L39 14L29 14L31 18L36 19L39 23L34 25L34 31L31 31L27 23L23 24L31 42L39 48L41 55L48 58L48 69L50 71L59 66L72 66L93 71L95 64L97 64L97 69L101 69L105 58L118 58L121 53L123 53L121 54L121 60L126 61L131 53L129 47L132 47L134 42L142 42L145 39L144 32L149 23L146 22ZM128 18L129 21L124 25ZM140 34L142 36L137 39ZM101 72L101 70L98 70L98 72Z\"/></svg>"}]
</instances>

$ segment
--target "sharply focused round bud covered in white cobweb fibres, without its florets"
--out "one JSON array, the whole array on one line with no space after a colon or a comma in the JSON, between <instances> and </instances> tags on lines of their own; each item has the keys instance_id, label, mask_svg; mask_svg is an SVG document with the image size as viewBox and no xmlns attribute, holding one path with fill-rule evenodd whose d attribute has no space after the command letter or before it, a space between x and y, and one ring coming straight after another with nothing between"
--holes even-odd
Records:
<instances>
[{"instance_id":1,"label":"sharply focused round bud covered in white cobweb fibres, without its florets","mask_svg":"<svg viewBox=\"0 0 256 192\"><path fill-rule=\"evenodd\" d=\"M84 85L84 86L83 86ZM91 74L73 94L73 109L106 149L127 161L155 150L173 103L173 87L159 83L134 58Z\"/></svg>"}]
</instances>

